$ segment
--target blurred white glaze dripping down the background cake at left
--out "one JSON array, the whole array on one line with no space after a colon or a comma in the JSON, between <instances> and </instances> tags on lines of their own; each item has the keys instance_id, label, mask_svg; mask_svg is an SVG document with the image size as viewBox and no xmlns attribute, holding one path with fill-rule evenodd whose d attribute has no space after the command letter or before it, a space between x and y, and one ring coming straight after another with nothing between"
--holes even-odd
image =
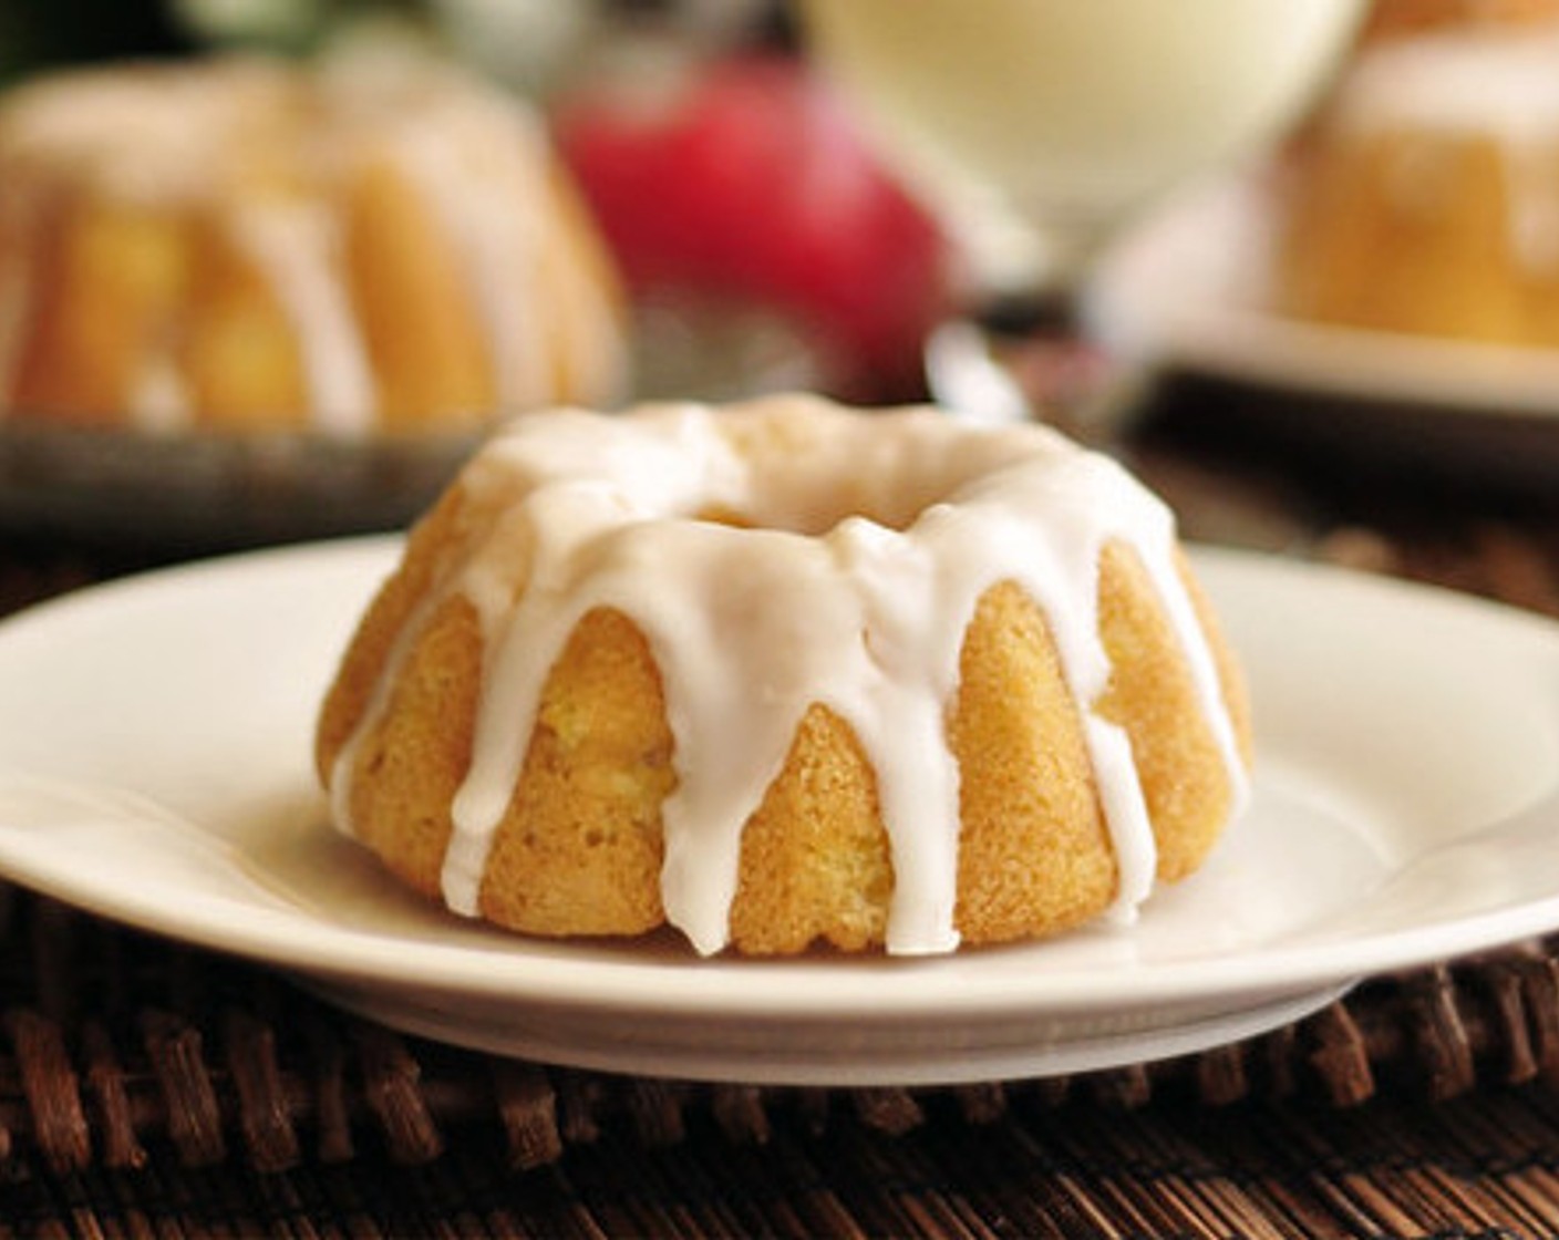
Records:
<instances>
[{"instance_id":1,"label":"blurred white glaze dripping down the background cake at left","mask_svg":"<svg viewBox=\"0 0 1559 1240\"><path fill-rule=\"evenodd\" d=\"M0 236L34 236L67 187L67 198L101 198L170 226L204 221L287 318L313 423L354 435L380 401L345 253L346 209L354 179L374 165L393 168L444 231L496 407L557 399L560 374L575 384L610 376L589 396L614 395L624 367L614 293L586 270L580 239L564 236L569 221L553 218L552 161L516 100L398 56L343 56L315 76L267 61L73 73L17 92L0 114L0 176L45 189L0 206L9 212ZM36 264L11 271L0 314L20 326L37 296ZM162 324L143 342L125 398L143 427L192 421L181 335L178 323ZM14 402L16 348L0 345L0 412Z\"/></svg>"}]
</instances>

